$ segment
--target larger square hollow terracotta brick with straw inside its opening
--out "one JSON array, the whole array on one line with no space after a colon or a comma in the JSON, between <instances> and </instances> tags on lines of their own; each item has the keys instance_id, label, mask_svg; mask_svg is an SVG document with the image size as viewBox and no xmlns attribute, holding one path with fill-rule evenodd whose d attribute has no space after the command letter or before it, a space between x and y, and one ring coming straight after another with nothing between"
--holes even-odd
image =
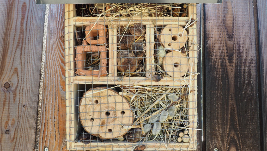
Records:
<instances>
[{"instance_id":1,"label":"larger square hollow terracotta brick with straw inside its opening","mask_svg":"<svg viewBox=\"0 0 267 151\"><path fill-rule=\"evenodd\" d=\"M76 46L76 65L77 65L77 71L76 74L81 76L98 76L99 71L96 70L87 70L85 69L85 59L86 59L86 52L100 52L101 61L102 64L100 66L101 69L101 75L100 76L106 76L107 75L107 51L105 46L96 46L96 45L88 45L88 43L84 40L82 46Z\"/></svg>"}]
</instances>

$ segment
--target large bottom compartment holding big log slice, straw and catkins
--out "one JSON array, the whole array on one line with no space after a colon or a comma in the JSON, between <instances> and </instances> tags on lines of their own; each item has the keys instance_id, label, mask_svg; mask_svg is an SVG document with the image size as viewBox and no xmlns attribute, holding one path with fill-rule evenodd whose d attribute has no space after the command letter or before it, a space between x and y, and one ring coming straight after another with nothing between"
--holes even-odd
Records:
<instances>
[{"instance_id":1,"label":"large bottom compartment holding big log slice, straw and catkins","mask_svg":"<svg viewBox=\"0 0 267 151\"><path fill-rule=\"evenodd\" d=\"M70 149L195 147L194 89L188 86L76 84L74 90Z\"/></svg>"}]
</instances>

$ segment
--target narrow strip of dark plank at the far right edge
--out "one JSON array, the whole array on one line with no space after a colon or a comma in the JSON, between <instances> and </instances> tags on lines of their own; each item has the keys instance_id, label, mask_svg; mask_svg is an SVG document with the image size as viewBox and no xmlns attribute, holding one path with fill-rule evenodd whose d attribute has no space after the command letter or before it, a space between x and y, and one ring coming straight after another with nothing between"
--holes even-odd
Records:
<instances>
[{"instance_id":1,"label":"narrow strip of dark plank at the far right edge","mask_svg":"<svg viewBox=\"0 0 267 151\"><path fill-rule=\"evenodd\" d=\"M267 1L258 0L258 33L260 49L260 113L261 144L262 149L267 150Z\"/></svg>"}]
</instances>

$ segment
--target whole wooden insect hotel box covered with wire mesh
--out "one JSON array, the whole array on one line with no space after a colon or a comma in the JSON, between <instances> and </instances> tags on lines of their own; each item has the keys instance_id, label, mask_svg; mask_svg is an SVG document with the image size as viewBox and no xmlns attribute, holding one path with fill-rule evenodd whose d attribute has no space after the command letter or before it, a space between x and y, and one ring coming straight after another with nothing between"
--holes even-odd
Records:
<instances>
[{"instance_id":1,"label":"whole wooden insect hotel box covered with wire mesh","mask_svg":"<svg viewBox=\"0 0 267 151\"><path fill-rule=\"evenodd\" d=\"M196 150L195 4L68 4L67 148Z\"/></svg>"}]
</instances>

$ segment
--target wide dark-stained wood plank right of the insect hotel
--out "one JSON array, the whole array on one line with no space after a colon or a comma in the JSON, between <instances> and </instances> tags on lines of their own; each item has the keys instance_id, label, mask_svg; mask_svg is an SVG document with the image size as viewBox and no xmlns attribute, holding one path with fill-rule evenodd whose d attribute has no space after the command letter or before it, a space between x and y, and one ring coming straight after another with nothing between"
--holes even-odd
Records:
<instances>
[{"instance_id":1,"label":"wide dark-stained wood plank right of the insect hotel","mask_svg":"<svg viewBox=\"0 0 267 151\"><path fill-rule=\"evenodd\" d=\"M252 0L205 4L204 13L206 150L261 150Z\"/></svg>"}]
</instances>

